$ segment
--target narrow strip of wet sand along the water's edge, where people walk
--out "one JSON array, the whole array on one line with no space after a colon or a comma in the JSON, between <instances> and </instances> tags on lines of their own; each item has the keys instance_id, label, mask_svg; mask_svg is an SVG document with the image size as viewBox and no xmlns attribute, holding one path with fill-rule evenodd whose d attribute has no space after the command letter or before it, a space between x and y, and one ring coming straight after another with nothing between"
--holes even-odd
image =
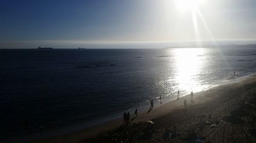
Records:
<instances>
[{"instance_id":1,"label":"narrow strip of wet sand along the water's edge, where people walk","mask_svg":"<svg viewBox=\"0 0 256 143\"><path fill-rule=\"evenodd\" d=\"M255 75L256 75L255 73L246 75L246 77L242 77L242 79L240 79L238 81L235 79L235 81L232 81L231 83L220 84L217 87L212 87L205 91L194 93L194 99L198 100L198 99L204 97L205 95L210 94L218 89L223 89L223 87L231 87L234 84L245 84L245 82L249 82L249 81L252 82L255 80L253 78L253 77L255 77ZM182 96L182 97L180 97L179 100L170 100L160 106L154 107L153 110L151 110L149 113L147 113L147 111L141 111L138 113L138 117L135 118L131 122L131 124L138 124L141 122L145 122L147 120L161 117L163 115L166 115L169 111L171 111L173 109L181 108L183 105L184 99L185 98L190 99L189 96L190 95ZM197 101L197 102L199 102L199 101ZM195 103L195 104L198 104L198 103ZM188 105L190 105L189 100L188 100ZM131 112L131 119L133 119L134 117L135 117L135 115L133 114L133 112ZM78 142L79 140L82 140L82 139L88 139L88 138L92 138L94 136L106 133L110 130L113 130L113 129L119 127L122 124L123 124L122 119L116 119L113 121L103 123L101 125L89 127L84 130L74 131L74 132L68 133L66 135L46 137L46 138L32 140L31 142Z\"/></svg>"}]
</instances>

